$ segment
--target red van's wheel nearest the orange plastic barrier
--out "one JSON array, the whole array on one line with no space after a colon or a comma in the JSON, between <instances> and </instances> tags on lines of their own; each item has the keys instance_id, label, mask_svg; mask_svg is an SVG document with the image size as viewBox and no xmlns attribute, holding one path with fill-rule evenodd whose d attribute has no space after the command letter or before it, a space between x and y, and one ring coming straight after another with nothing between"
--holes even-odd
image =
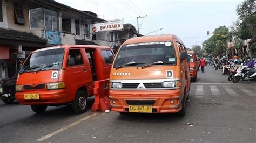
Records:
<instances>
[{"instance_id":1,"label":"red van's wheel nearest the orange plastic barrier","mask_svg":"<svg viewBox=\"0 0 256 143\"><path fill-rule=\"evenodd\" d=\"M75 113L84 113L87 110L88 101L87 101L86 92L79 90L77 91L77 95L75 101L72 103L72 109Z\"/></svg>"}]
</instances>

